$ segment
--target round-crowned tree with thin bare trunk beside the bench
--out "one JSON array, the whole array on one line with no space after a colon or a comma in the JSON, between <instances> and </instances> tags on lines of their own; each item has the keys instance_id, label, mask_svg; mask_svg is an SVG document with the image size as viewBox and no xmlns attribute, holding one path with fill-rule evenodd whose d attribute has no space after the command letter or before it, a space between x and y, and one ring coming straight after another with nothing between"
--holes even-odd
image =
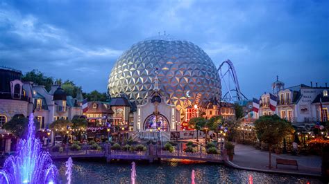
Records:
<instances>
[{"instance_id":1,"label":"round-crowned tree with thin bare trunk beside the bench","mask_svg":"<svg viewBox=\"0 0 329 184\"><path fill-rule=\"evenodd\" d=\"M292 134L294 128L291 122L281 119L277 115L261 116L255 120L256 135L260 141L269 147L269 168L271 168L271 148L277 145L287 134Z\"/></svg>"}]
</instances>

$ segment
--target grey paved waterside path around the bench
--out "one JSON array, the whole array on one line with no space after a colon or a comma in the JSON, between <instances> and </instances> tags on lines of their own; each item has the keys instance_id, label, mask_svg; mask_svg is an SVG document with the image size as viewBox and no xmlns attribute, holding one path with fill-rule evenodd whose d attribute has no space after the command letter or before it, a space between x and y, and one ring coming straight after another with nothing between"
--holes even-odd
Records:
<instances>
[{"instance_id":1,"label":"grey paved waterside path around the bench","mask_svg":"<svg viewBox=\"0 0 329 184\"><path fill-rule=\"evenodd\" d=\"M235 145L235 155L233 167L240 169L253 169L262 172L282 172L287 174L321 175L321 158L319 156L292 156L289 154L271 154L273 169L267 168L269 165L269 152L260 151L248 145ZM297 160L298 170L292 165L278 165L276 169L276 158ZM244 167L244 168L242 168Z\"/></svg>"}]
</instances>

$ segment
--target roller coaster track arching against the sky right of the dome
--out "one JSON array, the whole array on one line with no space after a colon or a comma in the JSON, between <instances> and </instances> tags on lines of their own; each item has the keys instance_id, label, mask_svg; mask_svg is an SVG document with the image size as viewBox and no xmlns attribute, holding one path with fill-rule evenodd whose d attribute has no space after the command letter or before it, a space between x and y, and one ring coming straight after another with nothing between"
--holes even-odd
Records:
<instances>
[{"instance_id":1,"label":"roller coaster track arching against the sky right of the dome","mask_svg":"<svg viewBox=\"0 0 329 184\"><path fill-rule=\"evenodd\" d=\"M237 80L237 73L235 72L235 68L230 59L222 62L217 71L219 72L223 86L225 86L224 89L226 89L221 101L237 102L239 100L247 99L240 90L239 81Z\"/></svg>"}]
</instances>

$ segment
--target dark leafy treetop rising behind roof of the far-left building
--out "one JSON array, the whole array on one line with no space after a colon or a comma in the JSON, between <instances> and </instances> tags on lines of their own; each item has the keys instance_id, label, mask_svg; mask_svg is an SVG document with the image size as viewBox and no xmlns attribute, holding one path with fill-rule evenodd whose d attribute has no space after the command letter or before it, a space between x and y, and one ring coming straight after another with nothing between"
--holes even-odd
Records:
<instances>
[{"instance_id":1,"label":"dark leafy treetop rising behind roof of the far-left building","mask_svg":"<svg viewBox=\"0 0 329 184\"><path fill-rule=\"evenodd\" d=\"M44 85L47 91L50 91L51 85L53 84L53 77L47 77L38 70L33 70L25 73L22 76L22 81L33 82L38 85Z\"/></svg>"}]
</instances>

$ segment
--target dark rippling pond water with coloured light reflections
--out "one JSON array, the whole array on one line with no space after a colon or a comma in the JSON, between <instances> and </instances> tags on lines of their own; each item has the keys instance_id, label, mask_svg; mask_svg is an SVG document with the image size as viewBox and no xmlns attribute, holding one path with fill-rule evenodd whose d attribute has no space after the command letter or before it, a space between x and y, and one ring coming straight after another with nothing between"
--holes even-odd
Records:
<instances>
[{"instance_id":1,"label":"dark rippling pond water with coloured light reflections","mask_svg":"<svg viewBox=\"0 0 329 184\"><path fill-rule=\"evenodd\" d=\"M65 161L56 161L65 183ZM130 163L74 160L72 183L130 183ZM266 174L203 163L136 163L136 183L191 183L192 169L196 183L321 183L317 178Z\"/></svg>"}]
</instances>

